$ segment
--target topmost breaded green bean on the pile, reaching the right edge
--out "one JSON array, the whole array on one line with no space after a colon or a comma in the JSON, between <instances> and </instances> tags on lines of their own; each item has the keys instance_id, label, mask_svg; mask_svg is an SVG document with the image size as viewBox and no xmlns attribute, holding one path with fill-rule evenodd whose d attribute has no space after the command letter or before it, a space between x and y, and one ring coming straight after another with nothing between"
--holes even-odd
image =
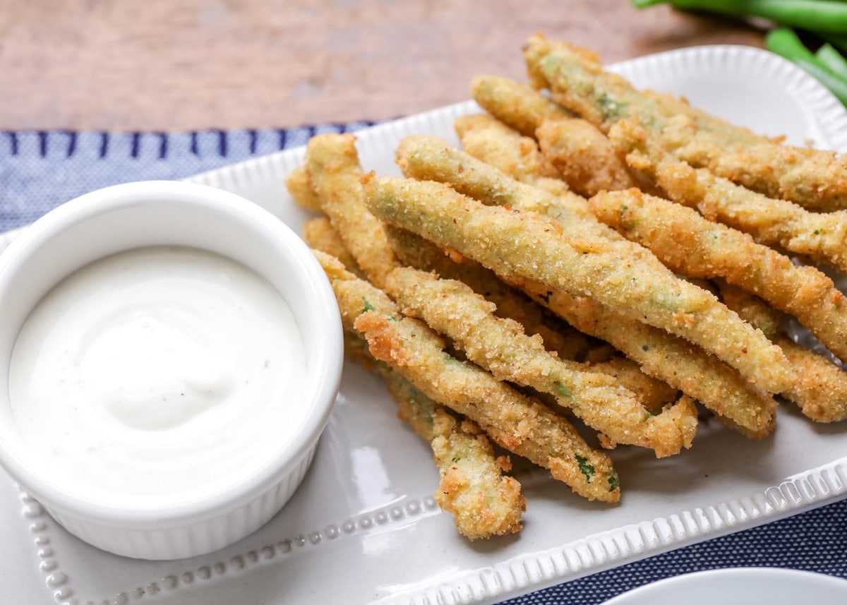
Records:
<instances>
[{"instance_id":1,"label":"topmost breaded green bean on the pile, reaching the right edge","mask_svg":"<svg viewBox=\"0 0 847 605\"><path fill-rule=\"evenodd\" d=\"M673 105L667 98L645 95L620 75L604 71L595 58L544 36L529 38L524 58L536 85L549 86L556 103L603 132L628 119L644 130L655 148L679 161L805 208L847 208L847 156L779 145L766 137L752 142L749 130L705 112L684 111L684 103Z\"/></svg>"}]
</instances>

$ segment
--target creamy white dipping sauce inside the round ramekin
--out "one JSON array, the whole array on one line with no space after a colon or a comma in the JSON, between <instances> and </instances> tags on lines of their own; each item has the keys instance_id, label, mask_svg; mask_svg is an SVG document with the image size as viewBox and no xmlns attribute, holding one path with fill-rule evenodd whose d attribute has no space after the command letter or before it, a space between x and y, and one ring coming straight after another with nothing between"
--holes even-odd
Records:
<instances>
[{"instance_id":1,"label":"creamy white dipping sauce inside the round ramekin","mask_svg":"<svg viewBox=\"0 0 847 605\"><path fill-rule=\"evenodd\" d=\"M261 469L302 425L302 337L244 265L187 247L115 254L26 319L14 421L41 463L92 497L197 496Z\"/></svg>"}]
</instances>

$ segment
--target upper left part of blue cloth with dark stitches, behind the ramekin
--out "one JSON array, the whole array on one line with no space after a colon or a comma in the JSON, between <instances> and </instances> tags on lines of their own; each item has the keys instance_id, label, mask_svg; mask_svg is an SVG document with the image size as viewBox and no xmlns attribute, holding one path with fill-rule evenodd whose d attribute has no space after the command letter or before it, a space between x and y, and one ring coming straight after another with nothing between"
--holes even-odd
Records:
<instances>
[{"instance_id":1,"label":"upper left part of blue cloth with dark stitches, behind the ramekin","mask_svg":"<svg viewBox=\"0 0 847 605\"><path fill-rule=\"evenodd\" d=\"M302 145L317 132L368 125L180 134L0 131L0 232L27 225L58 204L100 187L182 179Z\"/></svg>"}]
</instances>

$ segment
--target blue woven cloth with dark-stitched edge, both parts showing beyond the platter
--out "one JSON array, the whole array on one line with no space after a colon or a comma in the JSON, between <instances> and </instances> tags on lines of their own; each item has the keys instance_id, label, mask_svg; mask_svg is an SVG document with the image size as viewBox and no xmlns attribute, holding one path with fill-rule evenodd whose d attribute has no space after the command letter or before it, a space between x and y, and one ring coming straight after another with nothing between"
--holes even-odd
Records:
<instances>
[{"instance_id":1,"label":"blue woven cloth with dark-stitched edge, both parts showing beyond the platter","mask_svg":"<svg viewBox=\"0 0 847 605\"><path fill-rule=\"evenodd\" d=\"M130 180L181 179L302 145L318 132L353 131L367 125L356 122L290 130L180 134L0 132L0 232L26 225L59 203L102 186ZM805 569L847 578L847 500L507 603L594 605L673 575L727 567Z\"/></svg>"}]
</instances>

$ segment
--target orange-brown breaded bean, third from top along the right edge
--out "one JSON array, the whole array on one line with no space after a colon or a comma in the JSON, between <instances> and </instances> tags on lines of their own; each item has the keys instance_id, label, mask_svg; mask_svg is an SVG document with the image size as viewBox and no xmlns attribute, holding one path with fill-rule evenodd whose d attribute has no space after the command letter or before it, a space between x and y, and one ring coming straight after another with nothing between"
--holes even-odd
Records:
<instances>
[{"instance_id":1,"label":"orange-brown breaded bean, third from top along the right edge","mask_svg":"<svg viewBox=\"0 0 847 605\"><path fill-rule=\"evenodd\" d=\"M847 359L847 297L820 270L796 265L692 208L636 189L601 193L590 203L599 219L649 247L670 269L703 279L722 277L753 292L793 314L836 357Z\"/></svg>"}]
</instances>

